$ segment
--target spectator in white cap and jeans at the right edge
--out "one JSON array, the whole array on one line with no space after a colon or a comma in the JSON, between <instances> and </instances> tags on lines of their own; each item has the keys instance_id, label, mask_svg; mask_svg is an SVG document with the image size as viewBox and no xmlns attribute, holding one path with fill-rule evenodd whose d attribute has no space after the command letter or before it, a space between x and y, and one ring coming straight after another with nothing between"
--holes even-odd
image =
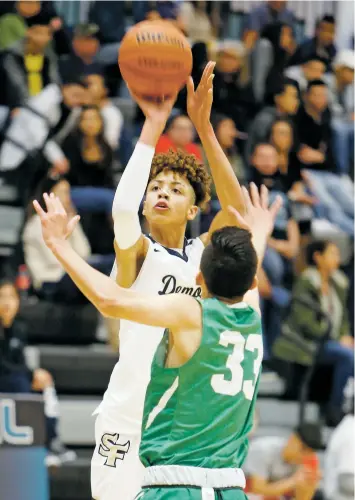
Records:
<instances>
[{"instance_id":1,"label":"spectator in white cap and jeans at the right edge","mask_svg":"<svg viewBox=\"0 0 355 500\"><path fill-rule=\"evenodd\" d=\"M334 74L326 77L332 113L333 151L337 171L348 174L354 163L355 52L342 50L334 61Z\"/></svg>"}]
</instances>

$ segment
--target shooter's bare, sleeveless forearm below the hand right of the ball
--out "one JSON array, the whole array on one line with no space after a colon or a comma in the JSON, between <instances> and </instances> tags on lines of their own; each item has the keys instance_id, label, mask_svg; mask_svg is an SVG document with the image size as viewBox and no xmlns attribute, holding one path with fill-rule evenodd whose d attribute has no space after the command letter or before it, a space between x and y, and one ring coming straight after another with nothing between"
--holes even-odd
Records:
<instances>
[{"instance_id":1,"label":"shooter's bare, sleeveless forearm below the hand right of the ball","mask_svg":"<svg viewBox=\"0 0 355 500\"><path fill-rule=\"evenodd\" d=\"M239 181L233 168L219 145L211 125L205 131L199 131L202 146L205 150L211 168L213 182L222 210L227 211L232 206L242 215L245 213L244 199Z\"/></svg>"}]
</instances>

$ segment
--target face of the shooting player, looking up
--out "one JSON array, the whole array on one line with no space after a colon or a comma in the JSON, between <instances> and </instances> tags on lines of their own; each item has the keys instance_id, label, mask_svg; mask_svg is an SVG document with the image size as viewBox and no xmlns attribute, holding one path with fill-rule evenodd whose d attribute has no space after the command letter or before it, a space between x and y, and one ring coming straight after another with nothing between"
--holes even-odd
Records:
<instances>
[{"instance_id":1,"label":"face of the shooting player, looking up","mask_svg":"<svg viewBox=\"0 0 355 500\"><path fill-rule=\"evenodd\" d=\"M185 177L165 170L149 183L143 214L150 225L183 226L197 212L194 190Z\"/></svg>"}]
</instances>

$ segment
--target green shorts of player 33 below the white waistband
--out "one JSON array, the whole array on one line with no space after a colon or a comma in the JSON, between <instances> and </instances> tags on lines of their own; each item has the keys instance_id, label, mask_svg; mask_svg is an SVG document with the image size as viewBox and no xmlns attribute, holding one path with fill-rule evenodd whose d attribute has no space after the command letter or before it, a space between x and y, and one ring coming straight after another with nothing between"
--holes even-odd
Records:
<instances>
[{"instance_id":1,"label":"green shorts of player 33 below the white waistband","mask_svg":"<svg viewBox=\"0 0 355 500\"><path fill-rule=\"evenodd\" d=\"M206 497L207 498L207 497ZM247 500L240 488L221 488L214 490L214 500ZM135 500L205 500L201 488L185 486L165 486L164 488L144 488ZM208 497L210 500L210 496Z\"/></svg>"}]
</instances>

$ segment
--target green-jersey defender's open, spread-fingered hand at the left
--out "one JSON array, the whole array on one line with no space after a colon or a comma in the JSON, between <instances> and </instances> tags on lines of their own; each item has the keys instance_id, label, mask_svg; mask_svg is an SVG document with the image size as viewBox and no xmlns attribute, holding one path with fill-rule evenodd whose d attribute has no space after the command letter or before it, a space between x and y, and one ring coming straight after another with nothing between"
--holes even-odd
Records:
<instances>
[{"instance_id":1,"label":"green-jersey defender's open, spread-fingered hand at the left","mask_svg":"<svg viewBox=\"0 0 355 500\"><path fill-rule=\"evenodd\" d=\"M33 202L33 206L41 219L44 242L48 248L54 250L58 244L63 243L72 234L80 216L75 215L69 218L61 201L53 193L50 196L45 193L43 198L47 212L43 210L37 200Z\"/></svg>"}]
</instances>

